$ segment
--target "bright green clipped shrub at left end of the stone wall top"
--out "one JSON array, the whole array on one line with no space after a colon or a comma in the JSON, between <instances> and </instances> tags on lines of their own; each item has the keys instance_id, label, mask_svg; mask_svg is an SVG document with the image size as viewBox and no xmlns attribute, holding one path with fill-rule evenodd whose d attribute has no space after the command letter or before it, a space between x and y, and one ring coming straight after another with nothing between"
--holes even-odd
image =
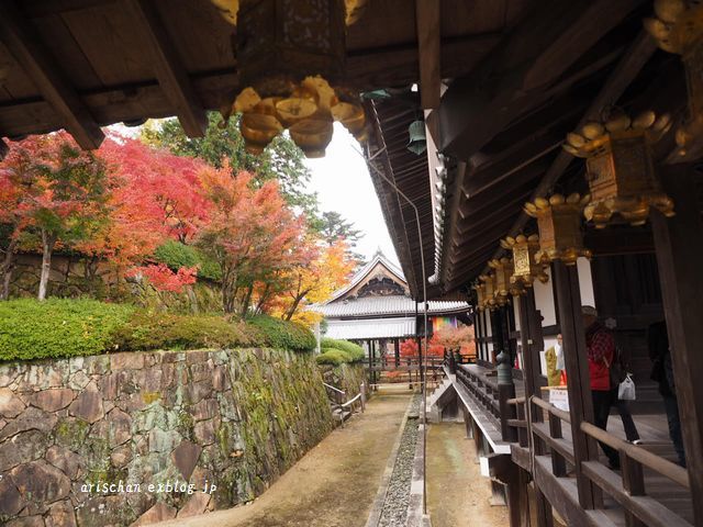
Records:
<instances>
[{"instance_id":1,"label":"bright green clipped shrub at left end of the stone wall top","mask_svg":"<svg viewBox=\"0 0 703 527\"><path fill-rule=\"evenodd\" d=\"M111 349L134 307L94 300L0 302L0 361L75 357Z\"/></svg>"}]
</instances>

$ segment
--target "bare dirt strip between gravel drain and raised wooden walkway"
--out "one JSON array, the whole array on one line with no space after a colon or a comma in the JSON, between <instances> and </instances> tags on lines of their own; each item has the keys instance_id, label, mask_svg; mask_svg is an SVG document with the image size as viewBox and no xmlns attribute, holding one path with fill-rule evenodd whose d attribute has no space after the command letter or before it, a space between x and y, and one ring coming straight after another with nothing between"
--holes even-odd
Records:
<instances>
[{"instance_id":1,"label":"bare dirt strip between gravel drain and raised wooden walkway","mask_svg":"<svg viewBox=\"0 0 703 527\"><path fill-rule=\"evenodd\" d=\"M507 508L491 506L489 480L480 474L473 441L462 423L427 429L427 508L438 527L503 527Z\"/></svg>"}]
</instances>

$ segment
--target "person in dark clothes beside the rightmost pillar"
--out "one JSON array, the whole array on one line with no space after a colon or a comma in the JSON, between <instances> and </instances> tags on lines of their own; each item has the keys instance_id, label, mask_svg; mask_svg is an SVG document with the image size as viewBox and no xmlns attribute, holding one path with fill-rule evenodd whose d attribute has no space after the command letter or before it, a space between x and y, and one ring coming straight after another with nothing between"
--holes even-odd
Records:
<instances>
[{"instance_id":1,"label":"person in dark clothes beside the rightmost pillar","mask_svg":"<svg viewBox=\"0 0 703 527\"><path fill-rule=\"evenodd\" d=\"M681 437L681 418L679 417L679 401L673 378L673 365L671 362L671 349L669 348L669 334L665 321L655 322L647 328L647 344L649 346L649 359L652 362L651 379L659 383L659 393L663 397L669 425L669 437L679 457L679 464L685 467L685 451Z\"/></svg>"}]
</instances>

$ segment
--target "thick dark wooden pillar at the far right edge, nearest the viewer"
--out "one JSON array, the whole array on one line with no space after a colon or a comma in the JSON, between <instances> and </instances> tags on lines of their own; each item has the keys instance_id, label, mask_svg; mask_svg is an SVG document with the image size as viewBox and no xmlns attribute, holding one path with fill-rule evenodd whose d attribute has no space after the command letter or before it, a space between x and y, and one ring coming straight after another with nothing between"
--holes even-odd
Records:
<instances>
[{"instance_id":1,"label":"thick dark wooden pillar at the far right edge, nearest the viewer","mask_svg":"<svg viewBox=\"0 0 703 527\"><path fill-rule=\"evenodd\" d=\"M691 494L703 495L703 221L691 166L660 169L677 215L651 211L663 311L673 362ZM700 177L700 176L699 176ZM694 525L703 526L703 500L693 500Z\"/></svg>"}]
</instances>

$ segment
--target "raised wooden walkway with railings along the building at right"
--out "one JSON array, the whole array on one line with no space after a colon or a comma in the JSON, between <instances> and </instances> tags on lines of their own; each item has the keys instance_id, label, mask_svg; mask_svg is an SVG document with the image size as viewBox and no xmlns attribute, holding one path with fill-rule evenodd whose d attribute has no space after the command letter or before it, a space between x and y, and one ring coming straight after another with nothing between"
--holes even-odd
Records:
<instances>
[{"instance_id":1,"label":"raised wooden walkway with railings along the building at right","mask_svg":"<svg viewBox=\"0 0 703 527\"><path fill-rule=\"evenodd\" d=\"M624 461L622 471L612 471L599 449L600 461L584 463L589 479L603 494L602 506L584 511L578 506L571 429L562 419L568 418L568 413L538 401L535 406L539 415L533 414L534 436L527 437L523 382L514 382L516 396L510 403L517 408L516 418L511 418L501 413L500 390L494 372L495 370L476 365L460 365L457 367L457 374L450 375L466 413L469 414L467 427L472 427L470 433L475 439L479 436L477 442L483 446L482 455L489 457L492 467L500 470L496 455L510 453L514 463L538 481L549 503L567 520L571 519L569 514L578 514L585 520L580 523L598 526L693 525L691 491L687 485L671 481L673 474L679 483L688 483L688 475L684 469L673 466L677 456L669 438L666 415L634 415L644 445L626 445L629 449L649 452L651 456L645 462L640 457L634 461L632 456L621 449L621 460ZM561 424L566 426L561 427ZM505 427L515 431L512 436L515 440L503 438L502 429ZM625 441L623 424L616 413L610 416L606 435L616 441ZM537 442L540 445L535 445ZM531 453L531 445L534 456ZM639 472L641 482L637 483ZM502 476L499 472L491 475L498 479ZM638 519L641 516L648 518L644 524Z\"/></svg>"}]
</instances>

